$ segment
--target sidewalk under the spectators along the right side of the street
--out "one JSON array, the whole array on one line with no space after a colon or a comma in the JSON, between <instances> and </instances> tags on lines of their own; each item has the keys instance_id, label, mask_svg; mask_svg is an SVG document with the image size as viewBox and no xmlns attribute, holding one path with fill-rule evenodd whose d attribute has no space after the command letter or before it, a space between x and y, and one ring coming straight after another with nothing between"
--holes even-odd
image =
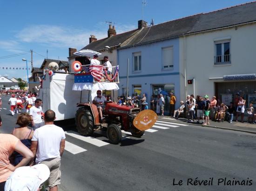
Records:
<instances>
[{"instance_id":1,"label":"sidewalk under the spectators along the right side of the street","mask_svg":"<svg viewBox=\"0 0 256 191\"><path fill-rule=\"evenodd\" d=\"M162 121L169 121L169 122L175 122L175 123L184 123L184 124L191 124L191 125L197 125L201 127L213 127L213 128L220 128L220 129L226 129L226 130L232 130L232 131L241 131L251 134L256 134L256 124L250 124L247 122L241 123L233 121L232 123L229 123L228 121L223 122L216 122L210 120L210 125L202 126L202 124L196 123L196 122L187 122L188 119L186 118L179 118L178 120L171 118L170 116L158 116L159 120Z\"/></svg>"}]
</instances>

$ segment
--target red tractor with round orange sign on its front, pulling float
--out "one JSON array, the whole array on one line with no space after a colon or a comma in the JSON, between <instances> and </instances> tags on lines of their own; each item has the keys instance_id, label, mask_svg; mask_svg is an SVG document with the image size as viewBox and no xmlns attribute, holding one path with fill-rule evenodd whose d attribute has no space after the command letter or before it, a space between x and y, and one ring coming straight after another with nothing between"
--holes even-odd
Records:
<instances>
[{"instance_id":1,"label":"red tractor with round orange sign on its front, pulling float","mask_svg":"<svg viewBox=\"0 0 256 191\"><path fill-rule=\"evenodd\" d=\"M103 130L107 131L109 142L118 144L122 137L121 130L140 138L144 134L144 130L155 124L157 116L152 110L141 111L140 108L114 102L105 102L105 104L105 110L103 110L105 120L102 123L99 121L96 105L90 102L77 104L77 107L81 108L76 112L75 122L80 134L91 135L95 129L102 127Z\"/></svg>"}]
</instances>

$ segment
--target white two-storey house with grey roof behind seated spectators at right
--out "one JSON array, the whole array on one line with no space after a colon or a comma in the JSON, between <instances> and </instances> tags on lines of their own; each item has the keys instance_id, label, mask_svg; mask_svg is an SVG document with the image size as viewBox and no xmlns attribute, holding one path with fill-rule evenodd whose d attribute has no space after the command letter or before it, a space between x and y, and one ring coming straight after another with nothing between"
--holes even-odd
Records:
<instances>
[{"instance_id":1,"label":"white two-storey house with grey roof behind seated spectators at right","mask_svg":"<svg viewBox=\"0 0 256 191\"><path fill-rule=\"evenodd\" d=\"M180 38L186 94L216 96L229 105L236 94L256 106L256 2L199 15ZM187 80L193 79L193 84Z\"/></svg>"}]
</instances>

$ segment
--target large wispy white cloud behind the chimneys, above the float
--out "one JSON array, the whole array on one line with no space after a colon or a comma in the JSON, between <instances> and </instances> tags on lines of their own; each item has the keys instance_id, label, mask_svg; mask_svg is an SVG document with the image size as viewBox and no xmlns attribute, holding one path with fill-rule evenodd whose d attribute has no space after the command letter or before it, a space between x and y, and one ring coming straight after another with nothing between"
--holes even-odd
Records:
<instances>
[{"instance_id":1,"label":"large wispy white cloud behind the chimneys, above the float","mask_svg":"<svg viewBox=\"0 0 256 191\"><path fill-rule=\"evenodd\" d=\"M115 25L117 33L135 29L135 25ZM95 29L75 29L54 25L31 25L22 29L16 37L25 43L40 43L54 47L83 47L88 45L89 37L94 34L97 39L106 38L108 25L99 23Z\"/></svg>"}]
</instances>

